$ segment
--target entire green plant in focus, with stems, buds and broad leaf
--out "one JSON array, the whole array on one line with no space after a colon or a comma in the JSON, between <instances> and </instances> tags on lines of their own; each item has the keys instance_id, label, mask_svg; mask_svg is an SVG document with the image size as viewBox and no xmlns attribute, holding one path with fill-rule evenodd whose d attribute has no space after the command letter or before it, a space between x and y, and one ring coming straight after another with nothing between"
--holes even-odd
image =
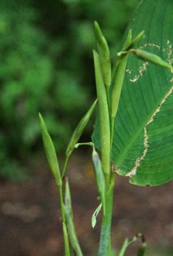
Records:
<instances>
[{"instance_id":1,"label":"entire green plant in focus, with stems, buds and broad leaf","mask_svg":"<svg viewBox=\"0 0 173 256\"><path fill-rule=\"evenodd\" d=\"M149 6L152 17L151 13L148 13ZM159 23L160 27L163 24L163 21L158 19L160 10L162 15L166 17L167 22L164 22L164 29L159 34L157 30L152 30L152 28L156 26L156 22ZM66 160L62 174L59 171L54 145L40 115L44 148L61 198L66 255L69 255L67 232L74 252L76 255L82 255L73 224L68 180L66 180L64 205L62 198L63 175L73 149L80 145L90 145L93 148L93 169L100 194L98 200L101 201L92 217L93 227L96 224L96 215L101 207L103 208L99 255L110 255L111 251L110 229L116 174L128 175L132 184L142 186L160 185L173 177L171 144L173 125L170 122L173 104L171 98L173 68L171 67L172 52L170 44L173 34L173 31L171 31L172 10L173 4L171 1L167 1L166 4L163 0L141 2L127 27L123 45L116 54L112 71L107 41L95 21L98 53L93 50L93 57L99 115L92 134L93 142L78 143L95 107L95 101L74 130L66 149ZM145 19L141 13L145 14ZM141 31L141 24L144 20L146 23L142 28L145 31ZM147 29L149 27L151 28L150 31ZM164 31L166 31L165 34ZM168 33L168 31L171 32ZM131 41L132 32L136 36ZM157 41L155 39L151 42L156 35ZM138 49L132 49L134 46ZM148 47L148 52L143 50L145 47ZM162 50L157 52L158 56L155 54L156 49ZM159 55L167 61L162 60ZM144 77L142 72L145 72L146 65L149 69L149 63L151 63L151 69L146 71ZM134 72L137 71L138 75L133 78ZM136 84L134 85L134 83ZM101 160L95 151L95 146L101 151ZM113 162L112 169L111 160ZM142 245L137 255L144 255L146 242L141 233L134 236L130 242L125 239L118 255L124 255L126 248L135 242L137 237L142 237Z\"/></svg>"}]
</instances>

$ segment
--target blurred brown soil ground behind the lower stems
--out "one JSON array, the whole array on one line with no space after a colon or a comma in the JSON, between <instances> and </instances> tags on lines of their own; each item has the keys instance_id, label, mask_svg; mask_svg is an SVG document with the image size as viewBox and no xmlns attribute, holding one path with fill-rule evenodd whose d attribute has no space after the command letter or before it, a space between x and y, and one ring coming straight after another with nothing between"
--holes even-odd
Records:
<instances>
[{"instance_id":1,"label":"blurred brown soil ground behind the lower stems","mask_svg":"<svg viewBox=\"0 0 173 256\"><path fill-rule=\"evenodd\" d=\"M32 179L24 184L0 182L0 255L63 255L58 189L46 168L47 163L37 163ZM91 160L74 157L73 162L69 161L66 176L82 250L84 255L96 255L101 213L93 229L91 217L99 206L96 199L99 195ZM172 192L172 181L156 187L140 187L129 184L128 178L118 175L114 189L111 246L119 250L126 236L131 239L141 232L148 248L157 248L148 250L146 255L173 255ZM125 255L136 255L140 243L138 239Z\"/></svg>"}]
</instances>

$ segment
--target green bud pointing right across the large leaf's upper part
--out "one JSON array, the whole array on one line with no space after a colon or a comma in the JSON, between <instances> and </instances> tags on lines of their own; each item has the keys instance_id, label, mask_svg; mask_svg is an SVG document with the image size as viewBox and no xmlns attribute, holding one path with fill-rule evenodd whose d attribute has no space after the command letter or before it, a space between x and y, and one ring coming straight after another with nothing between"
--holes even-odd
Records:
<instances>
[{"instance_id":1,"label":"green bud pointing right across the large leaf's upper part","mask_svg":"<svg viewBox=\"0 0 173 256\"><path fill-rule=\"evenodd\" d=\"M149 61L153 64L159 65L164 68L169 68L170 70L173 70L170 64L168 64L166 61L162 60L159 56L153 53L145 52L144 50L129 50L131 54L136 56L137 58L140 58L140 60Z\"/></svg>"}]
</instances>

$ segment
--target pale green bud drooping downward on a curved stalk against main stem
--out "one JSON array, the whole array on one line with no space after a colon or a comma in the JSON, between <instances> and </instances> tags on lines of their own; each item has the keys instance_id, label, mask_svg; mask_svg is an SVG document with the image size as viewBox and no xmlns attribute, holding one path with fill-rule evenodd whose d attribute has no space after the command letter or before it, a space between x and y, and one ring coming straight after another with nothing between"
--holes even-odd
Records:
<instances>
[{"instance_id":1,"label":"pale green bud drooping downward on a curved stalk against main stem","mask_svg":"<svg viewBox=\"0 0 173 256\"><path fill-rule=\"evenodd\" d=\"M92 152L92 165L93 165L93 170L94 170L94 173L95 173L97 189L100 193L101 204L102 204L102 207L103 207L103 214L105 214L105 210L106 210L106 183L105 183L103 168L101 166L101 160L99 158L99 155L95 151L94 146L93 146L93 152Z\"/></svg>"}]
</instances>

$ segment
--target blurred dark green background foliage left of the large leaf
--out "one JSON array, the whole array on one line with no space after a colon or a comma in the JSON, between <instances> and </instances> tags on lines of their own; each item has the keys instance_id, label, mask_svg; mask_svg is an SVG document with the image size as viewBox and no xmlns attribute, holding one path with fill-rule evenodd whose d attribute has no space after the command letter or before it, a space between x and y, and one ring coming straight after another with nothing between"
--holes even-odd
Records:
<instances>
[{"instance_id":1,"label":"blurred dark green background foliage left of the large leaf","mask_svg":"<svg viewBox=\"0 0 173 256\"><path fill-rule=\"evenodd\" d=\"M43 148L41 112L61 152L96 98L93 21L115 57L140 0L0 2L0 177L20 180L20 167ZM92 123L84 138L92 133ZM90 140L90 139L89 139Z\"/></svg>"}]
</instances>

